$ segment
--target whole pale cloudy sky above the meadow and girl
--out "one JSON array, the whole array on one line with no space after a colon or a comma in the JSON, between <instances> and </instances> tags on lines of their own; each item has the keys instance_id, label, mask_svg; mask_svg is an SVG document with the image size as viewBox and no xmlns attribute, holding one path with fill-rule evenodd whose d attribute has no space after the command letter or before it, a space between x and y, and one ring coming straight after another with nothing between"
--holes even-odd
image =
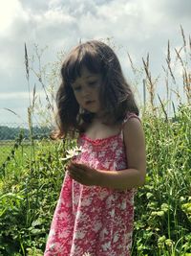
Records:
<instances>
[{"instance_id":1,"label":"whole pale cloudy sky above the meadow and girl","mask_svg":"<svg viewBox=\"0 0 191 256\"><path fill-rule=\"evenodd\" d=\"M46 108L44 89L51 90L53 83L56 91L63 53L68 53L79 41L89 39L100 39L114 47L124 75L137 92L141 105L142 58L146 59L149 53L152 75L161 78L168 40L172 51L180 49L180 26L188 38L190 13L190 0L0 1L0 126L28 122L34 85L36 113L40 111L39 101ZM44 88L32 70L27 81L25 43L30 66L36 73L39 71L36 53L42 53L40 67L43 72L46 70ZM136 75L128 53L137 67ZM57 77L51 81L53 66ZM179 74L179 68L175 68L175 72ZM165 99L164 81L159 82L157 90L161 99ZM44 112L41 117L43 115Z\"/></svg>"}]
</instances>

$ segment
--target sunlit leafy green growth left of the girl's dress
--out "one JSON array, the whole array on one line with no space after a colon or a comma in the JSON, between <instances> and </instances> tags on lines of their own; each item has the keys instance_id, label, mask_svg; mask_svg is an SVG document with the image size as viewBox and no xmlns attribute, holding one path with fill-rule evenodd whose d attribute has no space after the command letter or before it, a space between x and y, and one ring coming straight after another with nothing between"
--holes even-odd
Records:
<instances>
[{"instance_id":1,"label":"sunlit leafy green growth left of the girl's dress","mask_svg":"<svg viewBox=\"0 0 191 256\"><path fill-rule=\"evenodd\" d=\"M0 255L42 251L64 176L60 142L19 148L1 168Z\"/></svg>"}]
</instances>

